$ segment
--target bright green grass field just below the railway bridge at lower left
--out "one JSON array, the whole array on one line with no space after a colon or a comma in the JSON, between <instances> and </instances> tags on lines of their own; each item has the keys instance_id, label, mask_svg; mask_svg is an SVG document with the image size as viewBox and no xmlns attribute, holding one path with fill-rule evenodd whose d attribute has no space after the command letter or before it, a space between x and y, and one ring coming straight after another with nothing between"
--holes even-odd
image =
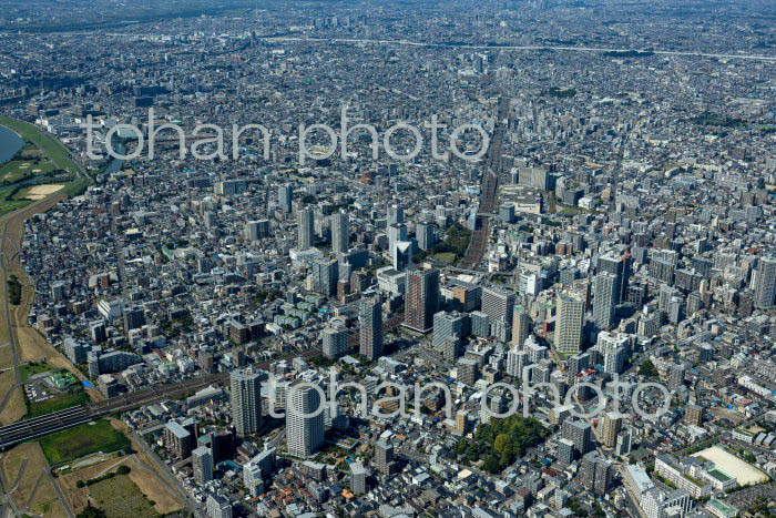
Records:
<instances>
[{"instance_id":1,"label":"bright green grass field just below the railway bridge at lower left","mask_svg":"<svg viewBox=\"0 0 776 518\"><path fill-rule=\"evenodd\" d=\"M132 446L130 439L105 419L47 435L40 445L51 465L67 464L95 451L129 450Z\"/></svg>"}]
</instances>

